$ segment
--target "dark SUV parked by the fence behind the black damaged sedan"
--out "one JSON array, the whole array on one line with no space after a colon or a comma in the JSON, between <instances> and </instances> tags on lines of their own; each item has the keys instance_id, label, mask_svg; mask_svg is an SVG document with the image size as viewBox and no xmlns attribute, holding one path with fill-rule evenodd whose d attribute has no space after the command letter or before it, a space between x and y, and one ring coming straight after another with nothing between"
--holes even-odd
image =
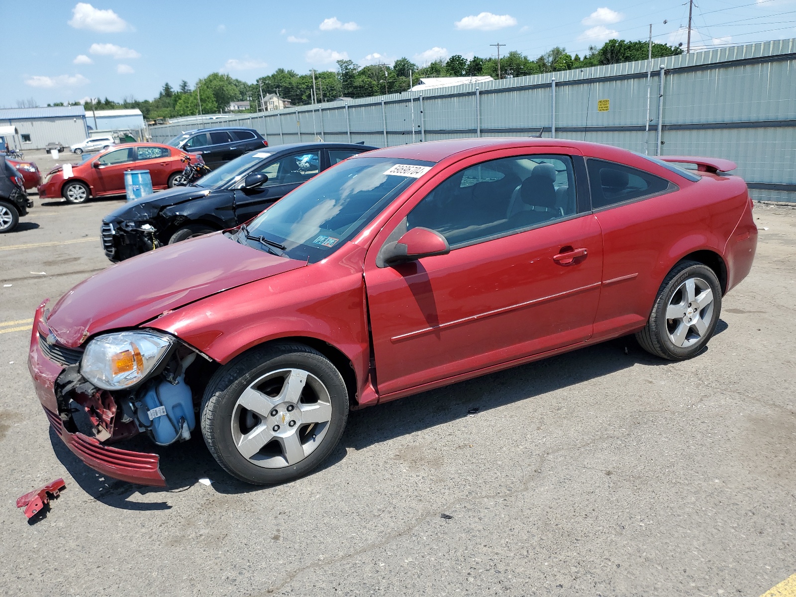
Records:
<instances>
[{"instance_id":1,"label":"dark SUV parked by the fence behind the black damaged sedan","mask_svg":"<svg viewBox=\"0 0 796 597\"><path fill-rule=\"evenodd\" d=\"M185 131L166 145L201 154L210 170L216 170L249 151L267 147L268 142L253 128L201 128Z\"/></svg>"}]
</instances>

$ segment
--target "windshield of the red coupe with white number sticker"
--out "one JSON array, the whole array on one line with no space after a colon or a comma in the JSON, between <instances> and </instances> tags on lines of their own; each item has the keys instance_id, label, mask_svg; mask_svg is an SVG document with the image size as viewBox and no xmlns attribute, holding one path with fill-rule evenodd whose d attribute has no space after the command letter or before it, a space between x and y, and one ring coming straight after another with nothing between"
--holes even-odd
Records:
<instances>
[{"instance_id":1,"label":"windshield of the red coupe with white number sticker","mask_svg":"<svg viewBox=\"0 0 796 597\"><path fill-rule=\"evenodd\" d=\"M434 162L354 158L318 174L248 224L248 235L284 245L284 255L315 263L365 228ZM236 240L266 251L258 240Z\"/></svg>"}]
</instances>

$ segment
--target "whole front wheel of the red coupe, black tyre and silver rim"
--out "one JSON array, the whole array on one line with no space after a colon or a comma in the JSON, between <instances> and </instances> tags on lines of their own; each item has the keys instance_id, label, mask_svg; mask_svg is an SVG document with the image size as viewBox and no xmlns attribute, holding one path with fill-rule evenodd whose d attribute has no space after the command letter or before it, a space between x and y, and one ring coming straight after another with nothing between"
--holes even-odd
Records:
<instances>
[{"instance_id":1,"label":"whole front wheel of the red coupe, black tyre and silver rim","mask_svg":"<svg viewBox=\"0 0 796 597\"><path fill-rule=\"evenodd\" d=\"M293 481L338 445L349 396L338 369L301 344L236 357L210 379L201 432L213 458L253 485Z\"/></svg>"}]
</instances>

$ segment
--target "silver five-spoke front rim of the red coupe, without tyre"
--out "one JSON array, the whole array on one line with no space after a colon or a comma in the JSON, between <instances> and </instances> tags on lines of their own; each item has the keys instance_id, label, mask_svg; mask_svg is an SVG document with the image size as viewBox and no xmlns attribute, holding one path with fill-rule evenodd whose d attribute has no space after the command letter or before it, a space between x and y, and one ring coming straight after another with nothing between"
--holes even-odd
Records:
<instances>
[{"instance_id":1,"label":"silver five-spoke front rim of the red coupe, without tyre","mask_svg":"<svg viewBox=\"0 0 796 597\"><path fill-rule=\"evenodd\" d=\"M249 384L232 409L232 440L263 468L294 466L320 446L332 418L329 391L303 369L279 369Z\"/></svg>"}]
</instances>

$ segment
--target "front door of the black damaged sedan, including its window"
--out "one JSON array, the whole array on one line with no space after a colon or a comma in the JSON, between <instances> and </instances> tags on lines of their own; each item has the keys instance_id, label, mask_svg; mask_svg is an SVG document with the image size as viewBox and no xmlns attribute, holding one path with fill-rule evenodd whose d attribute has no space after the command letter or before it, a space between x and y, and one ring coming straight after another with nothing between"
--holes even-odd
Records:
<instances>
[{"instance_id":1,"label":"front door of the black damaged sedan, including its window","mask_svg":"<svg viewBox=\"0 0 796 597\"><path fill-rule=\"evenodd\" d=\"M238 223L251 220L302 182L318 174L320 158L320 150L304 150L281 158L273 158L252 170L266 174L268 180L256 189L235 191L235 213Z\"/></svg>"}]
</instances>

